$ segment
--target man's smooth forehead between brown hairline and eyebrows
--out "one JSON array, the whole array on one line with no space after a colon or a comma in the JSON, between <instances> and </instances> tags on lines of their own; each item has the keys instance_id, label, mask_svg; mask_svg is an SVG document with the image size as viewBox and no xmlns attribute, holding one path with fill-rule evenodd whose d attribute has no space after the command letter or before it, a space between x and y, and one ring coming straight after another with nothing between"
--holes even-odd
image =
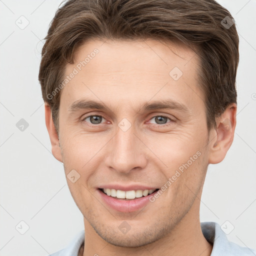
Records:
<instances>
[{"instance_id":1,"label":"man's smooth forehead between brown hairline and eyebrows","mask_svg":"<svg viewBox=\"0 0 256 256\"><path fill-rule=\"evenodd\" d=\"M70 105L84 96L123 107L129 101L135 107L134 102L169 95L191 104L193 97L202 98L198 63L195 51L182 43L90 40L76 49L74 63L66 65L65 77L74 75L62 89L60 103L63 97ZM188 97L187 102L182 97Z\"/></svg>"}]
</instances>

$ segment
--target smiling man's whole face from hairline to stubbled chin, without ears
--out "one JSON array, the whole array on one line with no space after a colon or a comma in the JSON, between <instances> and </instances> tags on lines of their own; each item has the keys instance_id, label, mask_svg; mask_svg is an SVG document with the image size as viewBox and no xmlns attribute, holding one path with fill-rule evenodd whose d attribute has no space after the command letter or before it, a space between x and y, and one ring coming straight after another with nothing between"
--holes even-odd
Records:
<instances>
[{"instance_id":1,"label":"smiling man's whole face from hairline to stubbled chin, without ears","mask_svg":"<svg viewBox=\"0 0 256 256\"><path fill-rule=\"evenodd\" d=\"M194 51L156 40L89 41L66 66L75 74L61 92L59 143L65 174L79 177L67 183L85 225L107 242L144 245L199 216L209 153L197 70ZM106 108L85 108L88 100ZM125 200L100 188L162 193Z\"/></svg>"}]
</instances>

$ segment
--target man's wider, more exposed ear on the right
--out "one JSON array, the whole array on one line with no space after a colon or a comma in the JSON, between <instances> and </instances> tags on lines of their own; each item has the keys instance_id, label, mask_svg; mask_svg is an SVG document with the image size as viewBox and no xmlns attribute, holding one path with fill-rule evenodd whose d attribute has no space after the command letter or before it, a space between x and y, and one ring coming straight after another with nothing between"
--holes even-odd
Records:
<instances>
[{"instance_id":1,"label":"man's wider, more exposed ear on the right","mask_svg":"<svg viewBox=\"0 0 256 256\"><path fill-rule=\"evenodd\" d=\"M217 118L217 128L212 132L209 142L209 163L221 162L231 146L236 125L236 109L236 104L232 103Z\"/></svg>"}]
</instances>

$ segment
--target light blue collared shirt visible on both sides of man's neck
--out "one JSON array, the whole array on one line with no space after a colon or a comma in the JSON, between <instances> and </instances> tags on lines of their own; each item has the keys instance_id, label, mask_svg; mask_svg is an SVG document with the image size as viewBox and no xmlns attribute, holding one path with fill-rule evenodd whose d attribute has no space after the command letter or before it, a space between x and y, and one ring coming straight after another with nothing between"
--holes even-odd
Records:
<instances>
[{"instance_id":1,"label":"light blue collared shirt visible on both sides of man's neck","mask_svg":"<svg viewBox=\"0 0 256 256\"><path fill-rule=\"evenodd\" d=\"M256 256L256 250L228 241L218 223L201 222L200 224L205 239L213 245L210 256ZM51 256L78 256L83 242L84 230L80 231L66 248L51 254Z\"/></svg>"}]
</instances>

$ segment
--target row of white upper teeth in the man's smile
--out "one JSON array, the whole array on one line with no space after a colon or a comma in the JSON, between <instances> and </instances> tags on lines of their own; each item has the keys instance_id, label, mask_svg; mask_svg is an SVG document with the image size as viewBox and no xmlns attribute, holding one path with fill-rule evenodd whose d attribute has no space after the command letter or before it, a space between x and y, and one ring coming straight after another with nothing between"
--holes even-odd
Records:
<instances>
[{"instance_id":1,"label":"row of white upper teeth in the man's smile","mask_svg":"<svg viewBox=\"0 0 256 256\"><path fill-rule=\"evenodd\" d=\"M155 189L137 189L137 190L129 190L129 191L123 191L119 189L113 189L113 188L103 188L103 191L105 194L112 196L112 197L117 197L120 199L134 199L134 198L139 198L142 196L147 196L148 194L151 194Z\"/></svg>"}]
</instances>

